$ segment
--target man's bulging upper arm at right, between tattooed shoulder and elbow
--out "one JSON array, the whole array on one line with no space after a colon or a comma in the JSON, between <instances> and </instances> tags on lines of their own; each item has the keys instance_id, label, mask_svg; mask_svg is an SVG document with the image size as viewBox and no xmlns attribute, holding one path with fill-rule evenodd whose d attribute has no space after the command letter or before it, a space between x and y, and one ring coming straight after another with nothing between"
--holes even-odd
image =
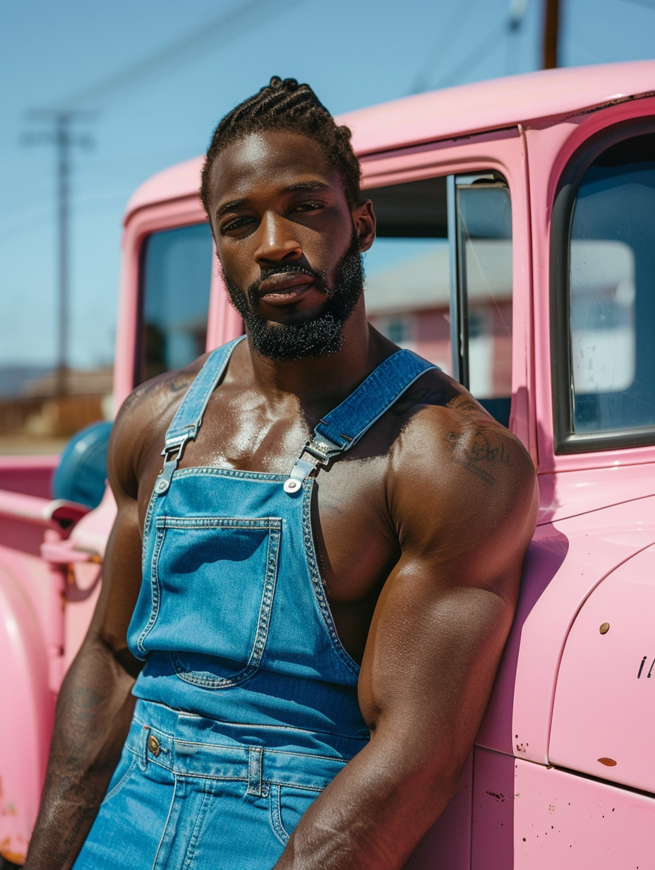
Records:
<instances>
[{"instance_id":1,"label":"man's bulging upper arm at right, between tattooed shoulder and elbow","mask_svg":"<svg viewBox=\"0 0 655 870\"><path fill-rule=\"evenodd\" d=\"M514 605L487 589L439 584L401 559L378 602L359 680L375 734L407 741L422 763L468 752L491 692Z\"/></svg>"}]
</instances>

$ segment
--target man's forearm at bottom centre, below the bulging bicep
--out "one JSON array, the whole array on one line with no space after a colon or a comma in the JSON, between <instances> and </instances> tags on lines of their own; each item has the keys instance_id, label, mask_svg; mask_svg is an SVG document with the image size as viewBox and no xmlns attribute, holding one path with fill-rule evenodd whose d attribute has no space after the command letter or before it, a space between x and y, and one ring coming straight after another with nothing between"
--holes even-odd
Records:
<instances>
[{"instance_id":1,"label":"man's forearm at bottom centre, below the bulging bicep","mask_svg":"<svg viewBox=\"0 0 655 870\"><path fill-rule=\"evenodd\" d=\"M445 761L416 758L372 740L304 813L275 870L402 867L458 786Z\"/></svg>"}]
</instances>

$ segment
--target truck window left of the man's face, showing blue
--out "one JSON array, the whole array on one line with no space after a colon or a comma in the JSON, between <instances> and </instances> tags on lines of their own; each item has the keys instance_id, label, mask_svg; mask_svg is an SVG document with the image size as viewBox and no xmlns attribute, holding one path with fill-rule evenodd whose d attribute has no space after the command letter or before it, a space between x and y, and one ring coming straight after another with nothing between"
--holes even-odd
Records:
<instances>
[{"instance_id":1,"label":"truck window left of the man's face, showing blue","mask_svg":"<svg viewBox=\"0 0 655 870\"><path fill-rule=\"evenodd\" d=\"M154 232L145 240L137 384L204 353L211 262L209 224Z\"/></svg>"}]
</instances>

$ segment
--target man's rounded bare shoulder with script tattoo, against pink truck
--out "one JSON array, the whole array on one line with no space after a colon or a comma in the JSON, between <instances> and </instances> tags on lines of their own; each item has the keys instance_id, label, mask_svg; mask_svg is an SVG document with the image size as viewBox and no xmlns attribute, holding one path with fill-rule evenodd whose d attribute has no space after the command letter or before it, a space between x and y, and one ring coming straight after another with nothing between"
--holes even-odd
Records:
<instances>
[{"instance_id":1,"label":"man's rounded bare shoulder with script tattoo, against pink truck","mask_svg":"<svg viewBox=\"0 0 655 870\"><path fill-rule=\"evenodd\" d=\"M471 394L431 372L401 397L392 447L390 504L406 546L453 553L525 552L538 509L525 447ZM517 550L518 548L518 550ZM491 552L491 551L490 551ZM445 558L445 557L444 557ZM511 558L511 557L508 557Z\"/></svg>"}]
</instances>

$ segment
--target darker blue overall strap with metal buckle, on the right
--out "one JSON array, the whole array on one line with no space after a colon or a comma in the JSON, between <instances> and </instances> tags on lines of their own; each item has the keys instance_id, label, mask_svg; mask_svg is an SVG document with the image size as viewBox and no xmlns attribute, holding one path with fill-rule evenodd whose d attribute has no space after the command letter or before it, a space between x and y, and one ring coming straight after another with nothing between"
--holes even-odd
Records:
<instances>
[{"instance_id":1,"label":"darker blue overall strap with metal buckle, on the right","mask_svg":"<svg viewBox=\"0 0 655 870\"><path fill-rule=\"evenodd\" d=\"M284 492L298 492L311 472L350 450L385 411L421 377L437 369L413 351L396 351L372 371L357 390L318 422L284 482ZM305 458L306 456L306 458Z\"/></svg>"}]
</instances>

